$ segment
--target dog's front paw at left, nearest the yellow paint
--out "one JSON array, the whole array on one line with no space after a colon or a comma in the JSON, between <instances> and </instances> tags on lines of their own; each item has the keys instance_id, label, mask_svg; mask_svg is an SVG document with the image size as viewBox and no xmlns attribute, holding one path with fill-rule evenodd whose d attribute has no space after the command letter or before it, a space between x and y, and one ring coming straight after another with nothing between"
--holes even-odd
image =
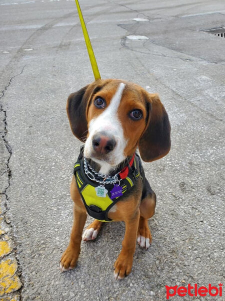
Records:
<instances>
[{"instance_id":1,"label":"dog's front paw at left, nearest the yellow paint","mask_svg":"<svg viewBox=\"0 0 225 301\"><path fill-rule=\"evenodd\" d=\"M60 271L64 272L73 269L76 265L78 256L79 252L77 252L77 250L75 250L74 248L68 246L61 256L61 260L59 263Z\"/></svg>"}]
</instances>

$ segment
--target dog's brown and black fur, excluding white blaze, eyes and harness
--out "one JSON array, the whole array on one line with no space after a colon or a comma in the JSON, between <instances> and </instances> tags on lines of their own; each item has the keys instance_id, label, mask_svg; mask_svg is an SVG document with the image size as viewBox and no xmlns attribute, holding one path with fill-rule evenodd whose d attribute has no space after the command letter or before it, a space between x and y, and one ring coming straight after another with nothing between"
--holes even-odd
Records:
<instances>
[{"instance_id":1,"label":"dog's brown and black fur, excluding white blaze, eyes and harness","mask_svg":"<svg viewBox=\"0 0 225 301\"><path fill-rule=\"evenodd\" d=\"M120 82L120 80L97 80L68 97L66 107L68 119L72 132L78 139L83 141L88 136L90 120L102 112L101 109L94 106L93 99L96 96L103 97L108 105ZM125 82L125 84L118 108L118 118L122 124L124 136L128 140L124 155L131 156L138 145L144 161L150 162L162 158L170 148L170 125L167 113L157 94L149 94L132 83ZM128 113L134 108L141 109L142 119L133 121L129 118ZM141 193L142 181L139 178L132 194L125 195L121 201L116 203L116 211L108 213L110 219L125 222L122 249L114 264L116 278L123 278L131 271L137 234L148 238L151 242L147 219L154 214L156 197L151 192L141 200ZM80 252L81 234L86 220L86 210L77 190L74 176L70 194L74 202L74 220L69 245L60 261L62 270L73 268L76 264ZM88 228L99 231L101 225L102 222L94 220Z\"/></svg>"}]
</instances>

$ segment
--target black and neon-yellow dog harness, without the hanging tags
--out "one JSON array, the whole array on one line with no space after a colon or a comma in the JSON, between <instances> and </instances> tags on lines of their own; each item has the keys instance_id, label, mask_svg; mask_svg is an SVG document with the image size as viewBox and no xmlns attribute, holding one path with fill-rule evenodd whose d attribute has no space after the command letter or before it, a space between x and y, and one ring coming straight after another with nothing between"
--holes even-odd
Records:
<instances>
[{"instance_id":1,"label":"black and neon-yellow dog harness, without the hanging tags","mask_svg":"<svg viewBox=\"0 0 225 301\"><path fill-rule=\"evenodd\" d=\"M136 160L139 160L137 155L135 155L133 161L134 164L128 169L127 177L120 180L119 186L122 188L122 196L134 186L134 182L140 177L140 174L136 169ZM75 176L77 189L87 213L94 219L97 219L101 222L111 222L112 220L107 216L108 211L119 201L122 196L110 199L110 191L114 187L114 184L104 185L108 191L105 198L98 197L96 195L95 187L97 187L99 184L95 181L91 181L84 172L82 149L78 160L74 165L73 174Z\"/></svg>"}]
</instances>

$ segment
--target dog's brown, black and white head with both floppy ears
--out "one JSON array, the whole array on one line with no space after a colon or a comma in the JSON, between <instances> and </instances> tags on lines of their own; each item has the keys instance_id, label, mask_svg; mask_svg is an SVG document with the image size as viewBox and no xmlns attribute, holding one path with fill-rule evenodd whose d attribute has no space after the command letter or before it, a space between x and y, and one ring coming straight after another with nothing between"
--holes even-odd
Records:
<instances>
[{"instance_id":1,"label":"dog's brown, black and white head with both floppy ears","mask_svg":"<svg viewBox=\"0 0 225 301\"><path fill-rule=\"evenodd\" d=\"M157 94L117 79L97 80L69 95L66 106L73 134L85 141L84 156L117 166L139 148L143 161L170 149L168 115Z\"/></svg>"}]
</instances>

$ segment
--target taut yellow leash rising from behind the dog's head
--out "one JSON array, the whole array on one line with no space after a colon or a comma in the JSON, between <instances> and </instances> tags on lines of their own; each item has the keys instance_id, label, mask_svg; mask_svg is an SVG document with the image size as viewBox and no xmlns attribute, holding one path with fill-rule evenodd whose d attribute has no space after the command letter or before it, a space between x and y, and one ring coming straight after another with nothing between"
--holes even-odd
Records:
<instances>
[{"instance_id":1,"label":"taut yellow leash rising from behind the dog's head","mask_svg":"<svg viewBox=\"0 0 225 301\"><path fill-rule=\"evenodd\" d=\"M89 39L87 30L86 30L86 25L85 25L84 20L83 20L83 16L82 16L82 12L81 12L80 7L79 7L78 0L75 0L75 3L76 3L77 12L78 12L78 15L79 15L80 25L81 25L81 28L82 28L82 31L83 31L83 37L84 37L84 40L85 40L85 43L86 43L86 49L87 49L89 59L90 59L90 64L91 64L91 67L92 67L92 70L93 70L93 75L94 75L95 80L97 80L97 79L101 78L98 67L97 67L97 62L96 62L96 59L95 59L95 56L94 56L94 53L93 53L93 49L92 49L90 39Z\"/></svg>"}]
</instances>

